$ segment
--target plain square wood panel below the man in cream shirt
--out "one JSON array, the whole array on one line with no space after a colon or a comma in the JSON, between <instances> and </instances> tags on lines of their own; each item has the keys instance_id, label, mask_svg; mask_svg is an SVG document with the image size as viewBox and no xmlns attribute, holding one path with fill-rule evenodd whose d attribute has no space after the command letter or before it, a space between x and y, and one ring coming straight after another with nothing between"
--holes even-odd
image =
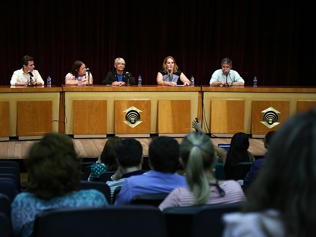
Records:
<instances>
[{"instance_id":1,"label":"plain square wood panel below the man in cream shirt","mask_svg":"<svg viewBox=\"0 0 316 237\"><path fill-rule=\"evenodd\" d=\"M52 132L52 101L17 101L17 136L44 136ZM21 138L23 139L23 138Z\"/></svg>"}]
</instances>

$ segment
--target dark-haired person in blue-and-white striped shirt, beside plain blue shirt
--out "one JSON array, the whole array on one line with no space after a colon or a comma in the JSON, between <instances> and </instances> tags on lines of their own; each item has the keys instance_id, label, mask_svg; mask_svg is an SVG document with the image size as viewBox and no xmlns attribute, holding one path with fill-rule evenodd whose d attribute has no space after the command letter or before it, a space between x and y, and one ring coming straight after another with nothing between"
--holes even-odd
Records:
<instances>
[{"instance_id":1,"label":"dark-haired person in blue-and-white striped shirt, beside plain blue shirt","mask_svg":"<svg viewBox=\"0 0 316 237\"><path fill-rule=\"evenodd\" d=\"M114 177L118 179L107 181L111 190L111 200L115 189L122 186L127 178L146 172L142 170L143 147L136 139L124 139L118 143L116 145L116 157L118 169Z\"/></svg>"}]
</instances>

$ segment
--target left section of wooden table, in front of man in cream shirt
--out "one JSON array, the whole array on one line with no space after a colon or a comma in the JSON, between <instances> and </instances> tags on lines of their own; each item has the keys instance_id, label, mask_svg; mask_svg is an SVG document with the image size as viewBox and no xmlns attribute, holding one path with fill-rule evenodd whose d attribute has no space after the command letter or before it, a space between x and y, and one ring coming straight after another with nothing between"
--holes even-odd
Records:
<instances>
[{"instance_id":1,"label":"left section of wooden table, in front of man in cream shirt","mask_svg":"<svg viewBox=\"0 0 316 237\"><path fill-rule=\"evenodd\" d=\"M0 86L0 101L1 102L9 102L9 123L10 123L10 137L17 137L17 128L20 126L22 129L22 123L25 126L32 126L32 129L29 129L27 133L23 133L19 139L39 139L45 134L47 131L58 131L59 128L59 103L60 103L60 93L62 91L61 87L51 86L51 88L47 88L47 86ZM48 101L48 104L51 106L45 107L37 107L32 105L29 108L24 108L23 113L35 113L34 110L46 110L47 113L42 113L45 115L44 118L39 118L40 121L37 123L42 124L30 124L32 121L28 121L25 123L23 121L23 117L17 118L17 104L18 101L27 102L27 101ZM35 103L37 103L35 102ZM32 104L32 102L31 102ZM40 112L40 111L36 111ZM46 116L47 115L47 116ZM44 121L43 121L44 120ZM54 122L56 121L56 122ZM45 128L42 127L44 125ZM24 130L25 131L25 130Z\"/></svg>"}]
</instances>

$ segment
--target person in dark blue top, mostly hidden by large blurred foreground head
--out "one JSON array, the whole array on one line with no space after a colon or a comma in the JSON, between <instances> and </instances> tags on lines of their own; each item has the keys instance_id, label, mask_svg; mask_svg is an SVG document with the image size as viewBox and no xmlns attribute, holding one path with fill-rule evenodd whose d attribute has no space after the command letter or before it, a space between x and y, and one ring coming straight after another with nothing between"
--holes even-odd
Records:
<instances>
[{"instance_id":1,"label":"person in dark blue top, mostly hidden by large blurred foreground head","mask_svg":"<svg viewBox=\"0 0 316 237\"><path fill-rule=\"evenodd\" d=\"M270 142L271 142L272 138L275 136L275 133L276 133L276 131L269 131L269 133L266 134L263 142L264 142L265 148L268 151L266 152L266 154L263 158L257 159L252 163L252 165L250 167L250 171L247 173L246 177L244 178L243 185L245 188L250 186L250 183L258 175L259 171L261 170L262 165L264 165L264 162L266 161L266 157L267 157L268 152L269 152L269 146L271 144Z\"/></svg>"}]
</instances>

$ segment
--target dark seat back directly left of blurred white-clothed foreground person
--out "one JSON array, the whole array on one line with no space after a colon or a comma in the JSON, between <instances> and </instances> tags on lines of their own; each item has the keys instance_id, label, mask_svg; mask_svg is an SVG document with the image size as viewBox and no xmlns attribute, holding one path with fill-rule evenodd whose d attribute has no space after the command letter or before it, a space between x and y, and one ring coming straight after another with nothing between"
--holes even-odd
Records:
<instances>
[{"instance_id":1,"label":"dark seat back directly left of blurred white-clothed foreground person","mask_svg":"<svg viewBox=\"0 0 316 237\"><path fill-rule=\"evenodd\" d=\"M240 207L241 203L205 206L193 216L192 237L221 237L224 228L223 214L238 212Z\"/></svg>"}]
</instances>

